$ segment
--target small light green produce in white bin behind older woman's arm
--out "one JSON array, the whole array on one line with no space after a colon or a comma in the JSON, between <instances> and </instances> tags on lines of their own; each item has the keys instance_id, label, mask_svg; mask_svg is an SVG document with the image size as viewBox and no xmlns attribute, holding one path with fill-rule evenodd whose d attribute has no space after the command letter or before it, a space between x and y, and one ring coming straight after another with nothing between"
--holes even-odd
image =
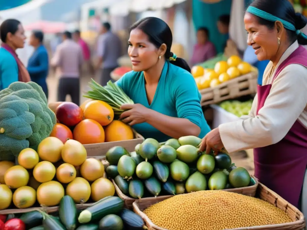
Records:
<instances>
[{"instance_id":1,"label":"small light green produce in white bin behind older woman's arm","mask_svg":"<svg viewBox=\"0 0 307 230\"><path fill-rule=\"evenodd\" d=\"M253 104L253 100L249 100L246 102L240 101L224 101L220 103L220 107L225 109L227 112L234 114L237 117L241 117L243 115L248 115L251 111L251 106Z\"/></svg>"}]
</instances>

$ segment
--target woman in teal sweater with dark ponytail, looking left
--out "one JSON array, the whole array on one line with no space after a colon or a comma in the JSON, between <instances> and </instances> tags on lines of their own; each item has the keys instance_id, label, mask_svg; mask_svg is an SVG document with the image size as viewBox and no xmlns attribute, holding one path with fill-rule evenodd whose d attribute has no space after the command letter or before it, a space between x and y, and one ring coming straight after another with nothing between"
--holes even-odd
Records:
<instances>
[{"instance_id":1,"label":"woman in teal sweater with dark ponytail, looking left","mask_svg":"<svg viewBox=\"0 0 307 230\"><path fill-rule=\"evenodd\" d=\"M136 22L128 41L133 71L117 81L135 103L122 105L129 109L122 121L159 142L189 135L202 138L210 131L190 67L170 52L172 41L163 20L147 17Z\"/></svg>"}]
</instances>

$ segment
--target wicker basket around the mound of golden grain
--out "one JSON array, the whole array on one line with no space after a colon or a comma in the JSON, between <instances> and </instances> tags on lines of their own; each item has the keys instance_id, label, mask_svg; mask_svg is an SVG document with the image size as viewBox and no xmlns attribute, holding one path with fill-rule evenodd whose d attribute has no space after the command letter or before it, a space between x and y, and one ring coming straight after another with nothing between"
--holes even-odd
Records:
<instances>
[{"instance_id":1,"label":"wicker basket around the mound of golden grain","mask_svg":"<svg viewBox=\"0 0 307 230\"><path fill-rule=\"evenodd\" d=\"M272 225L264 225L264 226L255 226L255 227L245 227L245 228L233 228L227 230L301 230L305 228L305 218L303 213L301 213L296 207L289 204L286 200L280 197L278 194L274 193L272 190L259 183L257 189L257 197L264 201L268 201L276 207L284 210L293 222L286 224L272 224ZM163 201L162 197L157 197L156 199L140 199L133 203L134 212L143 218L146 222L146 226L150 230L168 230L165 228L160 228L157 225L153 224L153 222L143 213L143 211L149 206L156 204L160 201ZM179 229L178 229L179 230Z\"/></svg>"}]
</instances>

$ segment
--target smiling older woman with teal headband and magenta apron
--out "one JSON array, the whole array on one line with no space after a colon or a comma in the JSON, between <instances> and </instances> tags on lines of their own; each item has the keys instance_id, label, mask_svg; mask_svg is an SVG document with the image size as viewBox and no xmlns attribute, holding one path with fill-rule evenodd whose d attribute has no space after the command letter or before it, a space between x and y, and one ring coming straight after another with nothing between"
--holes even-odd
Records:
<instances>
[{"instance_id":1,"label":"smiling older woman with teal headband and magenta apron","mask_svg":"<svg viewBox=\"0 0 307 230\"><path fill-rule=\"evenodd\" d=\"M307 21L288 0L255 0L244 23L258 60L270 63L249 116L209 132L200 150L253 148L255 176L301 208L301 191L307 193L307 50L300 44L307 36L300 29Z\"/></svg>"}]
</instances>

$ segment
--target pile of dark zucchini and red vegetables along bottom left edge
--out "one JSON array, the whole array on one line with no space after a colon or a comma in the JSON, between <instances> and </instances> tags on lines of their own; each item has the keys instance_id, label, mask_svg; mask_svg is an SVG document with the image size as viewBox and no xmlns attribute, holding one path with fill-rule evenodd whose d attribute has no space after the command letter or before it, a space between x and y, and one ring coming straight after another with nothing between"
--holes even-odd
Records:
<instances>
[{"instance_id":1,"label":"pile of dark zucchini and red vegetables along bottom left edge","mask_svg":"<svg viewBox=\"0 0 307 230\"><path fill-rule=\"evenodd\" d=\"M147 229L144 221L134 212L124 209L124 203L119 197L108 196L96 202L91 207L80 211L72 197L61 198L59 212L51 215L42 211L31 211L19 218L5 220L10 229L18 230L141 230ZM9 215L10 216L10 215ZM8 217L9 218L9 217ZM14 225L13 225L14 224ZM19 224L19 228L17 228ZM15 228L13 228L15 227ZM0 229L1 220L0 220Z\"/></svg>"}]
</instances>

